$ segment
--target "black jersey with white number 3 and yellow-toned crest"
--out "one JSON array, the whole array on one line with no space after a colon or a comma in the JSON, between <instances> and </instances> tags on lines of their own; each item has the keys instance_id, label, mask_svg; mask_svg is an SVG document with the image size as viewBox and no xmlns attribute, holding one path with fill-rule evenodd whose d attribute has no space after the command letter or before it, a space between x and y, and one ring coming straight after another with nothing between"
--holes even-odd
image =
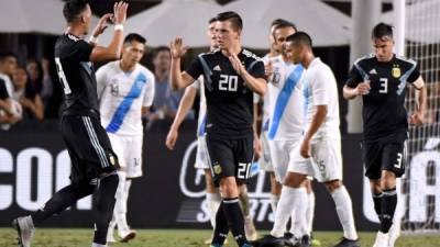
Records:
<instances>
[{"instance_id":1,"label":"black jersey with white number 3 and yellow-toned crest","mask_svg":"<svg viewBox=\"0 0 440 247\"><path fill-rule=\"evenodd\" d=\"M375 139L407 131L408 116L405 109L407 82L415 82L420 76L414 60L394 55L387 63L375 56L364 57L354 63L346 86L355 88L370 80L371 90L363 96L364 138Z\"/></svg>"}]
</instances>

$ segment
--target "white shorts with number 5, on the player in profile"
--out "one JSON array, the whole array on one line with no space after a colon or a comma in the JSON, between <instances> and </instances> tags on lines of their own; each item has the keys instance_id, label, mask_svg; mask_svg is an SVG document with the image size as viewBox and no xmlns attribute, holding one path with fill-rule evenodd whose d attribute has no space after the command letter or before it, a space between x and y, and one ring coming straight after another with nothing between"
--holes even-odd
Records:
<instances>
[{"instance_id":1,"label":"white shorts with number 5, on the player in profile","mask_svg":"<svg viewBox=\"0 0 440 247\"><path fill-rule=\"evenodd\" d=\"M310 158L307 159L299 154L299 148L300 143L294 150L288 171L311 176L319 182L342 180L340 137L312 139Z\"/></svg>"}]
</instances>

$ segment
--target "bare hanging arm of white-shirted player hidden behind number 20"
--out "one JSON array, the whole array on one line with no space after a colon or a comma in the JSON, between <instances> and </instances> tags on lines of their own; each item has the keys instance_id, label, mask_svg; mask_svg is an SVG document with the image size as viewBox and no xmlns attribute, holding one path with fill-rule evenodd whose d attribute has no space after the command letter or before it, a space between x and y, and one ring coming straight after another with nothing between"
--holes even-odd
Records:
<instances>
[{"instance_id":1,"label":"bare hanging arm of white-shirted player hidden behind number 20","mask_svg":"<svg viewBox=\"0 0 440 247\"><path fill-rule=\"evenodd\" d=\"M165 145L169 149L174 148L178 138L178 128L184 122L186 114L191 110L194 100L196 99L197 89L194 87L188 87L185 90L184 97L180 100L179 106L177 109L176 116L174 117L173 124L169 127L169 132L166 136Z\"/></svg>"}]
</instances>

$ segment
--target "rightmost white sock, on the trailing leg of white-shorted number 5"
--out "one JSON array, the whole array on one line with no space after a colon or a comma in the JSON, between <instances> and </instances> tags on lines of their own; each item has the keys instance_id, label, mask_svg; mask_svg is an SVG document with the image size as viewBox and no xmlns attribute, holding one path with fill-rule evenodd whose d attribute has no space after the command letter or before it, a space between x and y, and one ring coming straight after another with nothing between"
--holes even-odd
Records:
<instances>
[{"instance_id":1,"label":"rightmost white sock, on the trailing leg of white-shorted number 5","mask_svg":"<svg viewBox=\"0 0 440 247\"><path fill-rule=\"evenodd\" d=\"M358 239L356 228L354 226L353 207L349 192L342 186L336 189L331 197L333 198L339 221L341 222L344 237L351 240Z\"/></svg>"}]
</instances>

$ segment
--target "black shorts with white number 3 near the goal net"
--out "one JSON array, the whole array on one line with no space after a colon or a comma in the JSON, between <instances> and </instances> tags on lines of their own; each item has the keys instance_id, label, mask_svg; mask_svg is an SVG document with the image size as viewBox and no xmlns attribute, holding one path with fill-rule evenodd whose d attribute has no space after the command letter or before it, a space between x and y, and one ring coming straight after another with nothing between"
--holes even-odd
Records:
<instances>
[{"instance_id":1,"label":"black shorts with white number 3 near the goal net","mask_svg":"<svg viewBox=\"0 0 440 247\"><path fill-rule=\"evenodd\" d=\"M362 142L362 156L365 165L365 176L380 179L382 170L393 171L397 178L405 173L407 132L399 132Z\"/></svg>"}]
</instances>

